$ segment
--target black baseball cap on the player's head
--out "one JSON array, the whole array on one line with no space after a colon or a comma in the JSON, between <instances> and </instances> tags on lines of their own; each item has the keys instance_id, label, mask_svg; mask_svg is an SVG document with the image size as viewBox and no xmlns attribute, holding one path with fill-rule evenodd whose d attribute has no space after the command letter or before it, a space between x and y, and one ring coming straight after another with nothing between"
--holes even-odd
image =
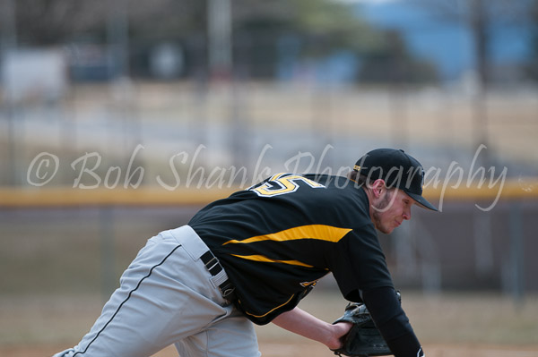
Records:
<instances>
[{"instance_id":1,"label":"black baseball cap on the player's head","mask_svg":"<svg viewBox=\"0 0 538 357\"><path fill-rule=\"evenodd\" d=\"M353 170L367 176L370 181L383 179L387 187L404 191L422 208L438 210L422 197L424 168L403 149L371 150L360 157Z\"/></svg>"}]
</instances>

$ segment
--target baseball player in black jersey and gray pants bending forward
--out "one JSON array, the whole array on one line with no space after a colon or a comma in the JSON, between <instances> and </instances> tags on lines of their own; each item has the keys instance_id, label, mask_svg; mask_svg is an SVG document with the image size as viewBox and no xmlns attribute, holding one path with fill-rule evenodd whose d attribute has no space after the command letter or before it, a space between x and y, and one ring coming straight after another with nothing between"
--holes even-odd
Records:
<instances>
[{"instance_id":1,"label":"baseball player in black jersey and gray pants bending forward","mask_svg":"<svg viewBox=\"0 0 538 357\"><path fill-rule=\"evenodd\" d=\"M143 357L175 344L183 357L253 357L252 323L269 322L325 344L330 324L297 305L332 272L343 297L364 302L396 357L422 356L377 240L422 196L423 168L398 149L375 149L348 177L274 174L152 237L82 341L55 357Z\"/></svg>"}]
</instances>

